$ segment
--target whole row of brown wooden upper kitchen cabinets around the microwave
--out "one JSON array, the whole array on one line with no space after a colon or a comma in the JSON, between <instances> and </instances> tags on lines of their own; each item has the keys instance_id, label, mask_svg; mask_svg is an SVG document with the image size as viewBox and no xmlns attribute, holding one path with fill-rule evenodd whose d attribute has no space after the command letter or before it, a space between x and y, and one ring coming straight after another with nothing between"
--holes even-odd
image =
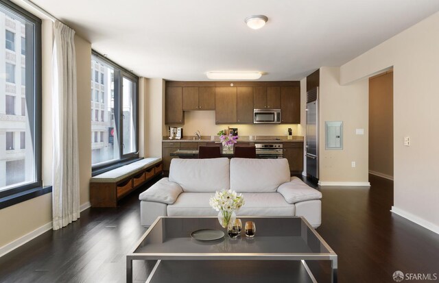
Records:
<instances>
[{"instance_id":1,"label":"whole row of brown wooden upper kitchen cabinets around the microwave","mask_svg":"<svg viewBox=\"0 0 439 283\"><path fill-rule=\"evenodd\" d=\"M185 110L215 110L215 123L253 123L253 109L281 109L281 123L300 123L300 82L166 82L165 123Z\"/></svg>"}]
</instances>

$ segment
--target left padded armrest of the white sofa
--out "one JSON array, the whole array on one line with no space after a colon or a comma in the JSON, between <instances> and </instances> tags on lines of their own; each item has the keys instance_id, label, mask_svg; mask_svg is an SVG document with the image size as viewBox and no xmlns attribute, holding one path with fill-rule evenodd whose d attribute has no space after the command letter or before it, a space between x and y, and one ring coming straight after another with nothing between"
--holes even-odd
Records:
<instances>
[{"instance_id":1,"label":"left padded armrest of the white sofa","mask_svg":"<svg viewBox=\"0 0 439 283\"><path fill-rule=\"evenodd\" d=\"M179 184L163 178L139 195L141 201L155 201L163 204L174 204L183 189Z\"/></svg>"}]
</instances>

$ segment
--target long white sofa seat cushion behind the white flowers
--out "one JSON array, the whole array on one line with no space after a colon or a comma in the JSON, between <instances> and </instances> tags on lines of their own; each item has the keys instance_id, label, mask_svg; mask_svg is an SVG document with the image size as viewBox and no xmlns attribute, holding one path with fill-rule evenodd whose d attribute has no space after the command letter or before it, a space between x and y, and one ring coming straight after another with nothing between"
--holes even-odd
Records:
<instances>
[{"instance_id":1,"label":"long white sofa seat cushion behind the white flowers","mask_svg":"<svg viewBox=\"0 0 439 283\"><path fill-rule=\"evenodd\" d=\"M174 204L167 206L168 216L217 216L209 206L214 193L182 193ZM280 193L244 193L246 204L237 216L293 216L295 206L288 204Z\"/></svg>"}]
</instances>

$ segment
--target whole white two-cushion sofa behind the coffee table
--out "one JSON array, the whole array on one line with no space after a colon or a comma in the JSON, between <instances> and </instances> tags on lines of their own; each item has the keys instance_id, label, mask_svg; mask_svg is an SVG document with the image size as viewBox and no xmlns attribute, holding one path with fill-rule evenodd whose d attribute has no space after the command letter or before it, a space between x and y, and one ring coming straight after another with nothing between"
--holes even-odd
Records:
<instances>
[{"instance_id":1,"label":"whole white two-cushion sofa behind the coffee table","mask_svg":"<svg viewBox=\"0 0 439 283\"><path fill-rule=\"evenodd\" d=\"M320 191L290 177L286 159L176 159L165 177L139 195L141 224L159 216L216 216L209 198L216 190L236 190L246 204L237 216L303 216L321 223Z\"/></svg>"}]
</instances>

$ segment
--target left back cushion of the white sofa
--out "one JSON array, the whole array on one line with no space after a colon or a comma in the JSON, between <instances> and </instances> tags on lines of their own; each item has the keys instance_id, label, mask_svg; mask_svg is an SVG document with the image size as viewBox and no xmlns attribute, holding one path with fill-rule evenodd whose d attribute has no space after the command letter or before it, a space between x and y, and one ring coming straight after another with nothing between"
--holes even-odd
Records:
<instances>
[{"instance_id":1,"label":"left back cushion of the white sofa","mask_svg":"<svg viewBox=\"0 0 439 283\"><path fill-rule=\"evenodd\" d=\"M169 181L185 193L209 193L230 188L228 158L171 160Z\"/></svg>"}]
</instances>

